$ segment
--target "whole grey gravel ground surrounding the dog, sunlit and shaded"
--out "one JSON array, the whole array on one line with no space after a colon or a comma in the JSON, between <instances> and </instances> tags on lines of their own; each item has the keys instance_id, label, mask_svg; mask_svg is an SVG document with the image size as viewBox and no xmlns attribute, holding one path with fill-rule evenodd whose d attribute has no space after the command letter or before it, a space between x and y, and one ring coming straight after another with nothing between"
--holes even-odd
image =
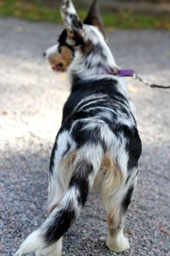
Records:
<instances>
[{"instance_id":1,"label":"whole grey gravel ground surrounding the dog, sunlit and shaded","mask_svg":"<svg viewBox=\"0 0 170 256\"><path fill-rule=\"evenodd\" d=\"M11 256L46 214L48 161L69 92L42 58L60 26L0 19L0 255ZM170 32L115 31L109 44L122 67L170 83ZM127 214L131 250L120 255L170 255L170 90L127 79L137 108L143 155L139 183ZM66 255L110 256L105 212L93 193L65 235ZM117 255L114 253L114 255Z\"/></svg>"}]
</instances>

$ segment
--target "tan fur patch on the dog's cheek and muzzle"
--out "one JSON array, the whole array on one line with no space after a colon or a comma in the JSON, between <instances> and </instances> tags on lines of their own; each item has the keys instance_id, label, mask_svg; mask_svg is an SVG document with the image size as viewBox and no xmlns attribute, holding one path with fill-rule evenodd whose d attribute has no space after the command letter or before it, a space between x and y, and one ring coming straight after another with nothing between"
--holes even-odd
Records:
<instances>
[{"instance_id":1,"label":"tan fur patch on the dog's cheek and muzzle","mask_svg":"<svg viewBox=\"0 0 170 256\"><path fill-rule=\"evenodd\" d=\"M52 54L48 56L48 61L51 67L59 67L61 64L62 66L59 67L60 72L67 71L67 68L69 67L72 60L72 53L71 50L68 49L66 46L61 47L61 53L60 54Z\"/></svg>"}]
</instances>

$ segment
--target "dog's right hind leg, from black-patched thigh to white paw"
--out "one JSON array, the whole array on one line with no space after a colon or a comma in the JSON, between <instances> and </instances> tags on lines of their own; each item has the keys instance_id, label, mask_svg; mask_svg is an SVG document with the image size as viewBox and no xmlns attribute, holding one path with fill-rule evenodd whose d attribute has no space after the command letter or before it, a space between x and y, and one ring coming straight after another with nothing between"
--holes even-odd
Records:
<instances>
[{"instance_id":1,"label":"dog's right hind leg, from black-patched thigh to white paw","mask_svg":"<svg viewBox=\"0 0 170 256\"><path fill-rule=\"evenodd\" d=\"M106 245L117 253L130 247L123 235L123 223L137 182L138 161L142 150L137 129L125 125L122 128L121 143L113 145L101 166L104 175L102 201L107 212L109 231ZM118 138L121 136L117 135Z\"/></svg>"}]
</instances>

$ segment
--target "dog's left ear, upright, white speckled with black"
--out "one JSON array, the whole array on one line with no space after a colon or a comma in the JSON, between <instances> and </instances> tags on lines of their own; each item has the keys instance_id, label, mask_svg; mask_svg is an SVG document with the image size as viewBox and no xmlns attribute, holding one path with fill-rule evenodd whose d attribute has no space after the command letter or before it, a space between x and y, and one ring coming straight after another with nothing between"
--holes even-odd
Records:
<instances>
[{"instance_id":1,"label":"dog's left ear, upright, white speckled with black","mask_svg":"<svg viewBox=\"0 0 170 256\"><path fill-rule=\"evenodd\" d=\"M79 19L71 0L62 0L60 11L65 27L69 32L82 31L82 21Z\"/></svg>"}]
</instances>

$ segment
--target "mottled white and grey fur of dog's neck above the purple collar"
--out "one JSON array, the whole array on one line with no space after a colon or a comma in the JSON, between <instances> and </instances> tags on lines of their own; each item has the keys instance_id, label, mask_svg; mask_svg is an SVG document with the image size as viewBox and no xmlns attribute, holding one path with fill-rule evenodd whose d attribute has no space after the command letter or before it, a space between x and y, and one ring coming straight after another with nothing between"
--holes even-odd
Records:
<instances>
[{"instance_id":1,"label":"mottled white and grey fur of dog's neck above the purple collar","mask_svg":"<svg viewBox=\"0 0 170 256\"><path fill-rule=\"evenodd\" d=\"M92 37L87 43L88 46L85 44L76 50L74 60L69 67L71 76L77 75L89 79L94 75L107 75L106 70L117 68L115 58L103 36L96 28L93 29L98 34L98 39L93 38L92 33ZM87 33L89 34L89 32Z\"/></svg>"}]
</instances>

